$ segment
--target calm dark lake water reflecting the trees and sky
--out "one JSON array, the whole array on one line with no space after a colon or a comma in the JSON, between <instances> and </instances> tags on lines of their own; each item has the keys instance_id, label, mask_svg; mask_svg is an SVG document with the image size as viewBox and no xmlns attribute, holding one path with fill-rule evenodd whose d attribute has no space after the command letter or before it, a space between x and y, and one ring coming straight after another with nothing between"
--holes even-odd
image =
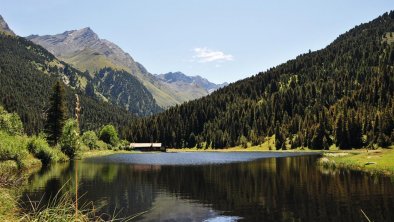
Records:
<instances>
[{"instance_id":1,"label":"calm dark lake water reflecting the trees and sky","mask_svg":"<svg viewBox=\"0 0 394 222\"><path fill-rule=\"evenodd\" d=\"M133 221L394 221L394 180L316 166L300 153L116 154L55 164L30 178L45 203L75 174L83 202ZM104 216L105 217L105 216Z\"/></svg>"}]
</instances>

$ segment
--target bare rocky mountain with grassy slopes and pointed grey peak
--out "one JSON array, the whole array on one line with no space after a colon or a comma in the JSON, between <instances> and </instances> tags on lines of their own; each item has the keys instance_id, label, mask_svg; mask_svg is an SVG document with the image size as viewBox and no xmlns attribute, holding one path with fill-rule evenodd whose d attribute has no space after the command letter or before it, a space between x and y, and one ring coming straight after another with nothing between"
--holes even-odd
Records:
<instances>
[{"instance_id":1,"label":"bare rocky mountain with grassy slopes and pointed grey peak","mask_svg":"<svg viewBox=\"0 0 394 222\"><path fill-rule=\"evenodd\" d=\"M207 87L203 84L204 81L198 81L201 84L188 87L188 84L180 81L168 82L158 78L149 73L142 64L134 61L119 46L100 39L89 27L56 35L30 35L26 38L78 69L88 70L91 75L106 67L129 72L141 81L162 108L206 96L212 88L215 88L215 86Z\"/></svg>"}]
</instances>

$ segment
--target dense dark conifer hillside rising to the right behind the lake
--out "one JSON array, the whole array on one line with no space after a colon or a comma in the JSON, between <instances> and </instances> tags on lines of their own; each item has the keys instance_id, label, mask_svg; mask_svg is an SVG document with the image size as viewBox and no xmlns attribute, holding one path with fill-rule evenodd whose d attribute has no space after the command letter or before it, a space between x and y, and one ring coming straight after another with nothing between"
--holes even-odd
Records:
<instances>
[{"instance_id":1,"label":"dense dark conifer hillside rising to the right behind the lake","mask_svg":"<svg viewBox=\"0 0 394 222\"><path fill-rule=\"evenodd\" d=\"M277 148L394 142L394 12L356 26L325 49L133 122L131 141L223 148L275 135Z\"/></svg>"}]
</instances>

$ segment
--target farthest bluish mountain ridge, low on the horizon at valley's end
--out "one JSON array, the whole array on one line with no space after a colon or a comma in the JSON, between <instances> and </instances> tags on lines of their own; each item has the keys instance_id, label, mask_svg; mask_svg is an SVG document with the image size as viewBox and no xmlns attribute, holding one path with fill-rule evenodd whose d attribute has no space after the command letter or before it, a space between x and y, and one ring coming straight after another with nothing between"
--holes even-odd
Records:
<instances>
[{"instance_id":1,"label":"farthest bluish mountain ridge, low on the horizon at valley's end","mask_svg":"<svg viewBox=\"0 0 394 222\"><path fill-rule=\"evenodd\" d=\"M168 72L156 76L167 83L195 84L199 87L204 88L208 93L212 93L213 91L228 85L227 82L222 84L215 84L201 76L188 76L182 72Z\"/></svg>"}]
</instances>

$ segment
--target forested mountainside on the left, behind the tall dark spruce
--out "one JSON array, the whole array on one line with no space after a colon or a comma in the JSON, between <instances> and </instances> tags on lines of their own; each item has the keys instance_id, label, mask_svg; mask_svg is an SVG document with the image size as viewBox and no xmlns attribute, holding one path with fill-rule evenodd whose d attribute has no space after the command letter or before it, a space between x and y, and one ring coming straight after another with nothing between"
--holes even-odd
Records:
<instances>
[{"instance_id":1,"label":"forested mountainside on the left, behind the tall dark spruce","mask_svg":"<svg viewBox=\"0 0 394 222\"><path fill-rule=\"evenodd\" d=\"M85 94L88 73L58 61L41 46L17 36L0 34L0 104L16 112L28 134L43 129L52 86L58 79L67 84L68 116L73 117L75 95L81 98L81 129L97 129L112 123L122 128L133 118L124 109Z\"/></svg>"}]
</instances>

